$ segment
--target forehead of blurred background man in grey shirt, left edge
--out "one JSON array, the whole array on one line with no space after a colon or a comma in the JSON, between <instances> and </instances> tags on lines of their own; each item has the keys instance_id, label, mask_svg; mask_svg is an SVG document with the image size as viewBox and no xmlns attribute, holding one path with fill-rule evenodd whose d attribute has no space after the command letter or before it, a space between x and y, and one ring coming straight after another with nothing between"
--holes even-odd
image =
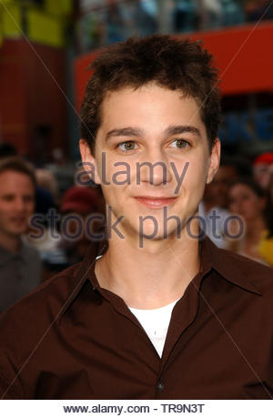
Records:
<instances>
[{"instance_id":1,"label":"forehead of blurred background man in grey shirt, left edge","mask_svg":"<svg viewBox=\"0 0 273 418\"><path fill-rule=\"evenodd\" d=\"M6 170L0 173L0 192L3 193L34 193L35 186L32 179L25 173Z\"/></svg>"}]
</instances>

